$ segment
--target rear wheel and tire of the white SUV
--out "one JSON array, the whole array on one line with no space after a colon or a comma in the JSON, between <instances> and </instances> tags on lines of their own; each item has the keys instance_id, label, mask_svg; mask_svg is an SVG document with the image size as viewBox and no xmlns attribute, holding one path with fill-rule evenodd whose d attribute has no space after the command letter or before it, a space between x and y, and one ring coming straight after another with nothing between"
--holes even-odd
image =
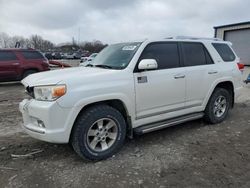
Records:
<instances>
[{"instance_id":1,"label":"rear wheel and tire of the white SUV","mask_svg":"<svg viewBox=\"0 0 250 188\"><path fill-rule=\"evenodd\" d=\"M232 95L224 88L216 88L205 109L204 119L216 124L224 121L232 104Z\"/></svg>"}]
</instances>

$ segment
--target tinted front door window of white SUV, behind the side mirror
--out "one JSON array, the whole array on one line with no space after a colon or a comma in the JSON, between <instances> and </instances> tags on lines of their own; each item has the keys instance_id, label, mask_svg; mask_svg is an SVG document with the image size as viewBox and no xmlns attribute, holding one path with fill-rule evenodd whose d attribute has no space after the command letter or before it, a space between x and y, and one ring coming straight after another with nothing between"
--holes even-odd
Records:
<instances>
[{"instance_id":1,"label":"tinted front door window of white SUV, behind the side mirror","mask_svg":"<svg viewBox=\"0 0 250 188\"><path fill-rule=\"evenodd\" d=\"M155 59L158 69L179 67L177 43L152 43L143 51L140 60Z\"/></svg>"}]
</instances>

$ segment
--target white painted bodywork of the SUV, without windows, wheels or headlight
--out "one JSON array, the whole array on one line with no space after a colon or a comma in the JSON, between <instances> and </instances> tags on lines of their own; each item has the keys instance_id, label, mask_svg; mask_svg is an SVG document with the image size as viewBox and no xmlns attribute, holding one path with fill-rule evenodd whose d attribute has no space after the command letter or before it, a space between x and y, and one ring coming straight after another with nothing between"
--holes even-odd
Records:
<instances>
[{"instance_id":1,"label":"white painted bodywork of the SUV, without windows, wheels or headlight","mask_svg":"<svg viewBox=\"0 0 250 188\"><path fill-rule=\"evenodd\" d=\"M208 49L215 64L134 73L143 49L147 44L159 41L201 42ZM241 72L236 64L238 58L234 62L223 62L211 42L214 41L146 40L123 70L76 67L30 75L22 81L25 86L65 84L67 93L53 102L34 99L21 102L19 107L24 118L24 129L37 139L67 143L78 113L94 102L121 100L135 128L146 123L204 111L214 88L223 81L233 83L237 96L241 88ZM211 71L217 71L218 74L208 74ZM174 79L178 75L184 77ZM147 82L139 84L139 76L146 76ZM27 103L29 105L25 110ZM42 120L46 128L38 127L37 119Z\"/></svg>"}]
</instances>

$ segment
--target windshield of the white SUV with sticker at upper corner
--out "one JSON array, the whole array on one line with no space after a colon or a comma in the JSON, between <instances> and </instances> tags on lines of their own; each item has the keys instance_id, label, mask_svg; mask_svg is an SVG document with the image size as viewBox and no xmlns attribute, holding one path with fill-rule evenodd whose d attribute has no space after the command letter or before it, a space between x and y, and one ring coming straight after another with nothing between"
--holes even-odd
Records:
<instances>
[{"instance_id":1,"label":"windshield of the white SUV with sticker at upper corner","mask_svg":"<svg viewBox=\"0 0 250 188\"><path fill-rule=\"evenodd\" d=\"M96 56L92 65L103 68L124 69L140 45L139 42L109 45Z\"/></svg>"}]
</instances>

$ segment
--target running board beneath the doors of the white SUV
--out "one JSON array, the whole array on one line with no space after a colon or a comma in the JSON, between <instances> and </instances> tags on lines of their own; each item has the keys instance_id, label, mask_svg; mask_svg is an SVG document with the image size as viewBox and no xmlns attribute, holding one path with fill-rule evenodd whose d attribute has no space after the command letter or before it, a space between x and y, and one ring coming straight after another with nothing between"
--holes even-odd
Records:
<instances>
[{"instance_id":1,"label":"running board beneath the doors of the white SUV","mask_svg":"<svg viewBox=\"0 0 250 188\"><path fill-rule=\"evenodd\" d=\"M200 112L200 113L194 113L194 114L189 114L189 115L185 115L185 116L181 116L177 118L168 119L165 121L150 123L150 124L142 125L140 127L136 127L134 129L134 133L141 135L141 134L149 133L152 131L164 129L166 127L170 127L173 125L181 124L187 121L200 119L203 116L204 116L204 113Z\"/></svg>"}]
</instances>

